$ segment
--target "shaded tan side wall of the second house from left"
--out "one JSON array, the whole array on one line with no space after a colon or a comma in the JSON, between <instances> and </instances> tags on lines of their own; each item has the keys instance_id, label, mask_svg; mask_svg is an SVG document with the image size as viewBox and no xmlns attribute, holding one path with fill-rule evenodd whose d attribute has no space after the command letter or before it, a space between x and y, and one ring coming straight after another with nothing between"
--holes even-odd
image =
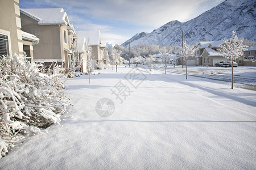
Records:
<instances>
[{"instance_id":1,"label":"shaded tan side wall of the second house from left","mask_svg":"<svg viewBox=\"0 0 256 170\"><path fill-rule=\"evenodd\" d=\"M38 25L38 21L22 13L20 19L22 30L40 39L34 45L34 59L61 59L59 25Z\"/></svg>"}]
</instances>

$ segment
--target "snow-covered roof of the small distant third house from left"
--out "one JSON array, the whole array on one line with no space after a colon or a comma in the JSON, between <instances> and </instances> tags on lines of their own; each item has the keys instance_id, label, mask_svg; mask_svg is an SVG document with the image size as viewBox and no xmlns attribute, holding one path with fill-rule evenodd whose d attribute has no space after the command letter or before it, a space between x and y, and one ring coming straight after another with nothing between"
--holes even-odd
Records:
<instances>
[{"instance_id":1,"label":"snow-covered roof of the small distant third house from left","mask_svg":"<svg viewBox=\"0 0 256 170\"><path fill-rule=\"evenodd\" d=\"M100 31L83 31L82 36L85 37L88 45L101 45Z\"/></svg>"}]
</instances>

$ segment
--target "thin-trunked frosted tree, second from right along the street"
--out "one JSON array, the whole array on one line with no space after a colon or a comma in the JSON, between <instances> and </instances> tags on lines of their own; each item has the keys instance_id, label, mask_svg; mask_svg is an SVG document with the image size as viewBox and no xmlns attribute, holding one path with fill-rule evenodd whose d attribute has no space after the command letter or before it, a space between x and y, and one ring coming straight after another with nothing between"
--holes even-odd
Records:
<instances>
[{"instance_id":1,"label":"thin-trunked frosted tree, second from right along the street","mask_svg":"<svg viewBox=\"0 0 256 170\"><path fill-rule=\"evenodd\" d=\"M187 59L188 57L195 56L195 52L197 51L197 46L189 46L187 42L185 41L183 44L183 48L179 52L179 56L185 58L185 66L186 66L186 79L188 79L188 73L187 73Z\"/></svg>"}]
</instances>

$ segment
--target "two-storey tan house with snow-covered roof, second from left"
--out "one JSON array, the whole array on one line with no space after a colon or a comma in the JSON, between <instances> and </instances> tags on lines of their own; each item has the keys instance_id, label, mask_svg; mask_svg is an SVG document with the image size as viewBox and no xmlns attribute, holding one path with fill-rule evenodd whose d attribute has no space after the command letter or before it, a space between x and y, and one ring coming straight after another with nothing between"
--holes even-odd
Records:
<instances>
[{"instance_id":1,"label":"two-storey tan house with snow-covered roof, second from left","mask_svg":"<svg viewBox=\"0 0 256 170\"><path fill-rule=\"evenodd\" d=\"M40 39L34 45L35 62L58 62L71 68L71 46L76 34L63 8L23 8L20 19L22 30Z\"/></svg>"}]
</instances>

